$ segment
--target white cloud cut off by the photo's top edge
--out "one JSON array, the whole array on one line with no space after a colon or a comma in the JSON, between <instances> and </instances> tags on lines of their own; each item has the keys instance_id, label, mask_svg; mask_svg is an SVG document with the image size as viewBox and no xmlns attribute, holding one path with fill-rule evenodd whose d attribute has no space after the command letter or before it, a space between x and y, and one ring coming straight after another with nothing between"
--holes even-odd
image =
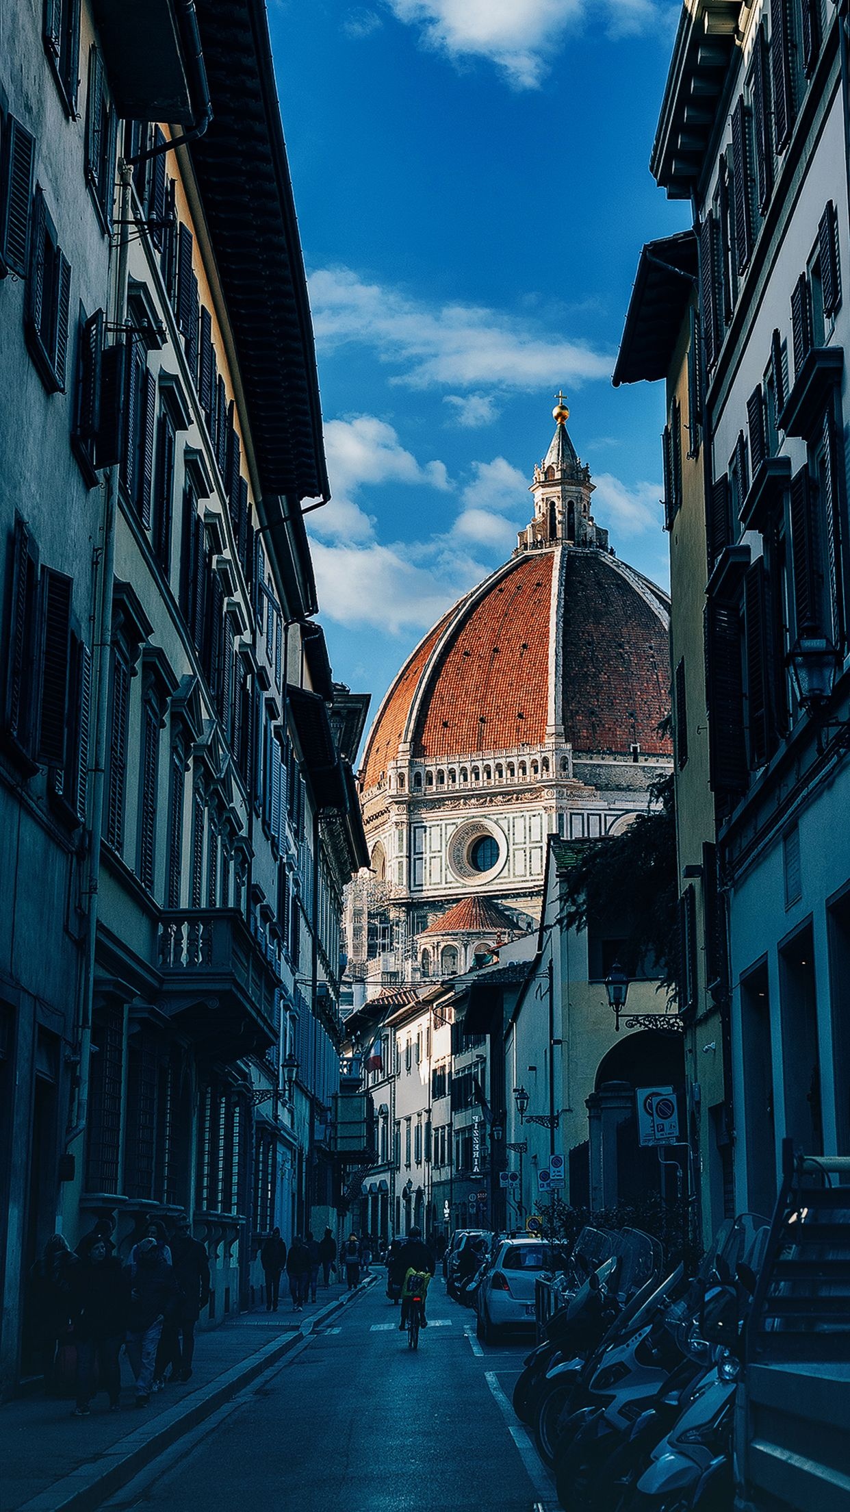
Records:
<instances>
[{"instance_id":1,"label":"white cloud cut off by the photo's top edge","mask_svg":"<svg viewBox=\"0 0 850 1512\"><path fill-rule=\"evenodd\" d=\"M455 62L485 57L514 89L537 89L564 35L582 20L613 36L658 15L655 0L387 0L399 21L422 29L428 47Z\"/></svg>"}]
</instances>

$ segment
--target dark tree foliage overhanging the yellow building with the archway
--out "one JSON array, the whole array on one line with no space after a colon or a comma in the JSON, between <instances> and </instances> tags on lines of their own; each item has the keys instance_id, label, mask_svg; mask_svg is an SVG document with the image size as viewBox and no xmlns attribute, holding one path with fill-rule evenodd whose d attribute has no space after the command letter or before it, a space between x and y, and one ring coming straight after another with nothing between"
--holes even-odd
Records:
<instances>
[{"instance_id":1,"label":"dark tree foliage overhanging the yellow building with the archway","mask_svg":"<svg viewBox=\"0 0 850 1512\"><path fill-rule=\"evenodd\" d=\"M563 922L617 918L625 927L623 965L655 960L669 996L676 990L679 909L673 776L650 788L646 813L622 835L593 841L566 878Z\"/></svg>"}]
</instances>

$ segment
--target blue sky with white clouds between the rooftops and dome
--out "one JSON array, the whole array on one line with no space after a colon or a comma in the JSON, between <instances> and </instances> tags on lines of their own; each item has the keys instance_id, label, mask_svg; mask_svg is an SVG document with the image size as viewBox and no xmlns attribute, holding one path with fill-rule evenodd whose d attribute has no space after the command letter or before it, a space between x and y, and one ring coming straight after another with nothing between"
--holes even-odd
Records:
<instances>
[{"instance_id":1,"label":"blue sky with white clouds between the rooftops and dome","mask_svg":"<svg viewBox=\"0 0 850 1512\"><path fill-rule=\"evenodd\" d=\"M665 582L659 386L613 389L667 0L271 0L333 502L309 516L334 674L374 696L505 561L563 386L617 555Z\"/></svg>"}]
</instances>

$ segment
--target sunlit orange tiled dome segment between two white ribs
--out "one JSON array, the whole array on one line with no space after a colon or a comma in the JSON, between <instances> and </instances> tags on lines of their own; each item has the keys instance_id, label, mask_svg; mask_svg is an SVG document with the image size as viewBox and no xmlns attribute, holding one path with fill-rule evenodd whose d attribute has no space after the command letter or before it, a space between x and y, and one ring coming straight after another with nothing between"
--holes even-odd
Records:
<instances>
[{"instance_id":1,"label":"sunlit orange tiled dome segment between two white ribs","mask_svg":"<svg viewBox=\"0 0 850 1512\"><path fill-rule=\"evenodd\" d=\"M461 623L413 742L420 761L546 739L552 552L517 556Z\"/></svg>"}]
</instances>

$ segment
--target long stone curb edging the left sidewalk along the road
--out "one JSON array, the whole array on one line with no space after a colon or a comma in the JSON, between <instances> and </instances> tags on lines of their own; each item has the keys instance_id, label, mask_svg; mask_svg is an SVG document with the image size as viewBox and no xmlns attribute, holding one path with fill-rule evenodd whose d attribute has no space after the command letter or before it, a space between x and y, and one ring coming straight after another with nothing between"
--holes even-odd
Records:
<instances>
[{"instance_id":1,"label":"long stone curb edging the left sidewalk along the road","mask_svg":"<svg viewBox=\"0 0 850 1512\"><path fill-rule=\"evenodd\" d=\"M239 1365L233 1365L224 1374L216 1376L207 1387L201 1387L200 1391L194 1393L180 1406L172 1408L171 1412L160 1412L154 1420L153 1432L142 1426L133 1433L127 1433L109 1448L104 1448L97 1459L79 1465L68 1476L62 1476L53 1485L45 1486L38 1495L17 1507L17 1512L94 1512L107 1497L113 1495L133 1476L138 1476L139 1471L150 1465L153 1459L166 1448L171 1448L177 1439L183 1438L194 1427L198 1427L204 1418L212 1417L231 1397L245 1387L250 1387L257 1376L262 1376L269 1365L275 1365L278 1359L289 1355L296 1344L302 1344L304 1340L310 1338L316 1325L321 1326L355 1297L363 1296L375 1284L375 1279L372 1276L369 1281L361 1282L357 1291L349 1291L346 1296L337 1297L336 1302L328 1302L312 1318L307 1318L295 1334L272 1340L271 1344L257 1350L256 1355L248 1355Z\"/></svg>"}]
</instances>

